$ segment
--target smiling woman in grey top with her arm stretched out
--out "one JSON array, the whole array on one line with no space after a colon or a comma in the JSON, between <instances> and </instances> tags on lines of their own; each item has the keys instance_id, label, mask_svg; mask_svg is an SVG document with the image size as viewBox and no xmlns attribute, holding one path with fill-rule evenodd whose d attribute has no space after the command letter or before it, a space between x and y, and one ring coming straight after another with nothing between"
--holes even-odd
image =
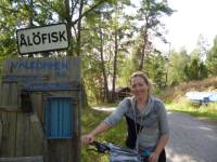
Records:
<instances>
[{"instance_id":1,"label":"smiling woman in grey top with her arm stretched out","mask_svg":"<svg viewBox=\"0 0 217 162\"><path fill-rule=\"evenodd\" d=\"M88 135L81 137L84 144L90 144L94 137L111 129L126 118L128 126L127 147L151 152L149 162L165 162L164 147L168 141L169 127L162 100L151 96L151 83L148 77L137 71L130 77L132 97L126 97L118 108Z\"/></svg>"}]
</instances>

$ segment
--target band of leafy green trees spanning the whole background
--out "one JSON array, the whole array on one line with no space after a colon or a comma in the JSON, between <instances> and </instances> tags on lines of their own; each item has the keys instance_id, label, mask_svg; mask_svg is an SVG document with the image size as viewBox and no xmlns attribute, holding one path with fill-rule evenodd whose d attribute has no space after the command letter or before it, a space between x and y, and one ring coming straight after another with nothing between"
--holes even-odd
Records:
<instances>
[{"instance_id":1,"label":"band of leafy green trees spanning the whole background","mask_svg":"<svg viewBox=\"0 0 217 162\"><path fill-rule=\"evenodd\" d=\"M105 91L128 85L129 76L138 69L146 71L161 89L205 78L207 69L210 76L217 75L216 40L208 51L200 36L193 53L171 52L167 59L155 49L153 38L167 42L162 17L175 11L165 0L139 3L135 6L130 0L0 0L0 64L17 54L16 29L65 22L71 41L66 55L82 58L82 77L91 102L106 100ZM207 51L207 59L201 60Z\"/></svg>"}]
</instances>

